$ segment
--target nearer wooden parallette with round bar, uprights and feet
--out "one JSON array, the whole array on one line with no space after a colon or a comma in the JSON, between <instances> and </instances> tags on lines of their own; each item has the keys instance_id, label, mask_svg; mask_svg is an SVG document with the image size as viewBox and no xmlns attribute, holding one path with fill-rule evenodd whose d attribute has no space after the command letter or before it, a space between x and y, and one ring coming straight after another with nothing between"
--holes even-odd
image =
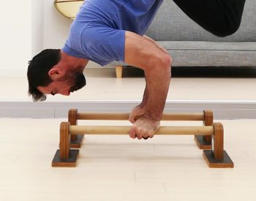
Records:
<instances>
[{"instance_id":1,"label":"nearer wooden parallette with round bar, uprights and feet","mask_svg":"<svg viewBox=\"0 0 256 201\"><path fill-rule=\"evenodd\" d=\"M62 122L60 129L60 149L53 158L53 167L75 167L79 150L70 150L69 136L76 134L128 134L129 126L70 126ZM233 167L233 162L223 150L223 126L162 126L157 134L201 134L211 135L214 139L212 151L203 151L209 167Z\"/></svg>"}]
</instances>

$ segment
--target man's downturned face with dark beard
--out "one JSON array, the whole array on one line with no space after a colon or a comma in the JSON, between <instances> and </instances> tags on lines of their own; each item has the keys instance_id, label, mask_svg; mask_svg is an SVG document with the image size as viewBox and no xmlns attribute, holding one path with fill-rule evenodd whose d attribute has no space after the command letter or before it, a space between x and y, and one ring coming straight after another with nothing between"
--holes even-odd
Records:
<instances>
[{"instance_id":1,"label":"man's downturned face with dark beard","mask_svg":"<svg viewBox=\"0 0 256 201\"><path fill-rule=\"evenodd\" d=\"M86 78L83 73L73 73L54 80L48 86L39 86L37 89L43 94L52 94L53 96L55 94L61 94L69 96L70 92L78 91L78 89L83 88L85 85Z\"/></svg>"}]
</instances>

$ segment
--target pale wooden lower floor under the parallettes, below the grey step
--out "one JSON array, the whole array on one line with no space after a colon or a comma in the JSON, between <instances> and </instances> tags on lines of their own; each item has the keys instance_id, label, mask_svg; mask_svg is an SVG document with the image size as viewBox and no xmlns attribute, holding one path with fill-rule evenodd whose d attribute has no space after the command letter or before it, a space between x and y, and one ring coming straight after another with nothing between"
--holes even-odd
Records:
<instances>
[{"instance_id":1,"label":"pale wooden lower floor under the parallettes, below the grey step","mask_svg":"<svg viewBox=\"0 0 256 201\"><path fill-rule=\"evenodd\" d=\"M78 167L53 168L61 121L67 119L1 119L1 201L256 200L256 120L222 121L234 169L208 168L192 136L132 140L121 135L90 135Z\"/></svg>"}]
</instances>

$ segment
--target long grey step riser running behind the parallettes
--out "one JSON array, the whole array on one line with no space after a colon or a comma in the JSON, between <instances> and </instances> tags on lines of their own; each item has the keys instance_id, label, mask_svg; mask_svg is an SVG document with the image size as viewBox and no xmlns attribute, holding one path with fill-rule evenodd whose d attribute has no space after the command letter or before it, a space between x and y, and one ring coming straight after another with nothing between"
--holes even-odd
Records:
<instances>
[{"instance_id":1,"label":"long grey step riser running behind the parallettes","mask_svg":"<svg viewBox=\"0 0 256 201\"><path fill-rule=\"evenodd\" d=\"M139 101L90 101L90 102L0 102L0 118L67 118L68 110L83 112L129 113ZM204 109L214 111L214 119L256 118L256 102L225 101L170 101L165 113L198 113Z\"/></svg>"}]
</instances>

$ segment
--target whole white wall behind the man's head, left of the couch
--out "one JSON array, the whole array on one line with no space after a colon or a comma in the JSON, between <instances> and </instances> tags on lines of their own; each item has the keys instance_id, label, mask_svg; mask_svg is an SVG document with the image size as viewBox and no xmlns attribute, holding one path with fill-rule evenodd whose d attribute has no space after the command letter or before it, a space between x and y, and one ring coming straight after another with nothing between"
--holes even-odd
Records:
<instances>
[{"instance_id":1,"label":"whole white wall behind the man's head, left of the couch","mask_svg":"<svg viewBox=\"0 0 256 201\"><path fill-rule=\"evenodd\" d=\"M0 77L26 77L28 61L45 48L62 48L72 23L53 0L5 1L1 15Z\"/></svg>"}]
</instances>

